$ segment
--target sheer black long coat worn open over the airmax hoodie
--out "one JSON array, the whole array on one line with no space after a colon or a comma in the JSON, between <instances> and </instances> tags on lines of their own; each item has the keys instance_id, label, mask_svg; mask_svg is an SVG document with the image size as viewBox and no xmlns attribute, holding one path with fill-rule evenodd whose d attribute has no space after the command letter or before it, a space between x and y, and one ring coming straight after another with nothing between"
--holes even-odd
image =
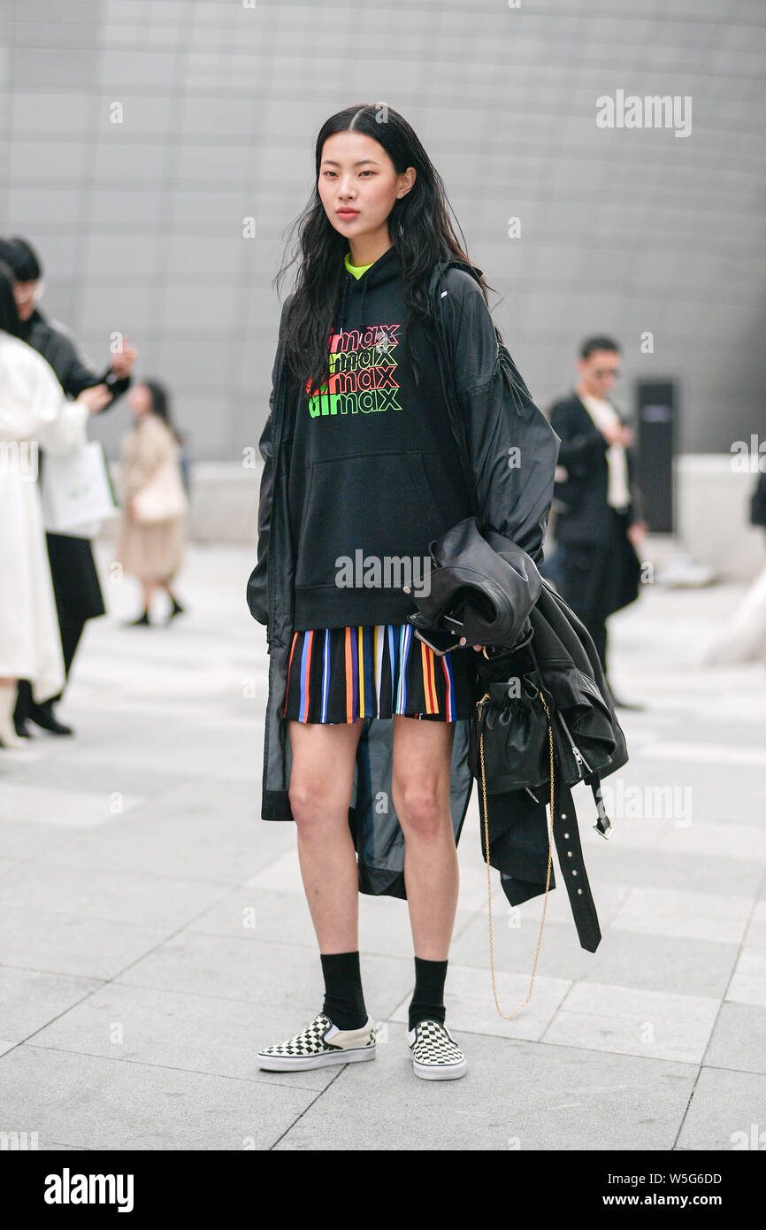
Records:
<instances>
[{"instance_id":1,"label":"sheer black long coat worn open over the airmax hoodie","mask_svg":"<svg viewBox=\"0 0 766 1230\"><path fill-rule=\"evenodd\" d=\"M513 359L498 344L492 316L478 285L481 271L462 261L438 264L430 279L441 387L476 515L542 560L542 541L553 493L558 437L535 406ZM289 467L282 440L299 405L300 390L288 376L283 325L272 370L269 415L259 439L264 461L258 510L257 563L247 583L253 619L264 624L269 653L263 738L261 817L294 819L288 796L290 738L282 712L293 640L295 550L290 540ZM520 465L510 464L519 449ZM413 606L414 610L414 606ZM471 652L464 649L459 652ZM391 796L392 720L363 718L357 749L349 825L359 865L359 889L406 898L405 838ZM470 721L455 722L450 807L455 843L465 819L473 777ZM519 791L519 817L535 811L545 829L545 807ZM505 888L505 884L503 886ZM508 892L507 892L508 895Z\"/></svg>"}]
</instances>

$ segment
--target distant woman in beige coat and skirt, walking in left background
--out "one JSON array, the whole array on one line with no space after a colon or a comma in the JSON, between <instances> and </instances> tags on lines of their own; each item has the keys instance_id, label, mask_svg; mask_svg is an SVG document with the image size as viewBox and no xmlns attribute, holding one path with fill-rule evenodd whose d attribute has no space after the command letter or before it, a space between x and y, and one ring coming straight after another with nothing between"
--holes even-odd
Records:
<instances>
[{"instance_id":1,"label":"distant woman in beige coat and skirt, walking in left background","mask_svg":"<svg viewBox=\"0 0 766 1230\"><path fill-rule=\"evenodd\" d=\"M180 471L180 438L171 423L167 392L144 380L128 396L135 427L123 445L117 558L141 582L144 611L127 627L149 626L151 599L164 589L172 603L167 622L184 608L171 589L186 542L188 502Z\"/></svg>"}]
</instances>

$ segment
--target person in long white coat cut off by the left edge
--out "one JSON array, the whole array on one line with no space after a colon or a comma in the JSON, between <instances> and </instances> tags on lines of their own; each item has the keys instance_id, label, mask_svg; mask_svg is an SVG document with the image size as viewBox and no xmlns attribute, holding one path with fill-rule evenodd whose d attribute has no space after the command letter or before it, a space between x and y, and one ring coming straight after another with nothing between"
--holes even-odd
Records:
<instances>
[{"instance_id":1,"label":"person in long white coat cut off by the left edge","mask_svg":"<svg viewBox=\"0 0 766 1230\"><path fill-rule=\"evenodd\" d=\"M0 745L16 734L16 683L43 704L64 685L64 657L37 482L38 449L66 454L86 443L86 422L109 401L95 385L68 401L53 368L18 336L14 276L0 263Z\"/></svg>"}]
</instances>

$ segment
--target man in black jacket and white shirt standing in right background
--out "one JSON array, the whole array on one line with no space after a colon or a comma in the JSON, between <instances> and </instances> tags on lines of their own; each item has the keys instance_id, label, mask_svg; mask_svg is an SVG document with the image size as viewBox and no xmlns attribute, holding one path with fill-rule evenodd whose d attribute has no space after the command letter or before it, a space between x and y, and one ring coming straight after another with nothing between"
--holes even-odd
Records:
<instances>
[{"instance_id":1,"label":"man in black jacket and white shirt standing in right background","mask_svg":"<svg viewBox=\"0 0 766 1230\"><path fill-rule=\"evenodd\" d=\"M590 632L606 675L606 620L638 597L636 547L647 526L633 435L609 397L620 375L616 342L588 338L577 369L574 391L548 411L561 439L552 506L558 550L543 572Z\"/></svg>"}]
</instances>

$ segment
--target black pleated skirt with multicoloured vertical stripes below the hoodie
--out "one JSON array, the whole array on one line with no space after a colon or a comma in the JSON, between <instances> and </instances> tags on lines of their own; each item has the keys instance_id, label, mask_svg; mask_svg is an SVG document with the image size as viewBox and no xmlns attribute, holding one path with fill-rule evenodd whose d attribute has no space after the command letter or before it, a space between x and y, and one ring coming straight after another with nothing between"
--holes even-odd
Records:
<instances>
[{"instance_id":1,"label":"black pleated skirt with multicoloured vertical stripes below the hoodie","mask_svg":"<svg viewBox=\"0 0 766 1230\"><path fill-rule=\"evenodd\" d=\"M470 646L439 657L411 624L295 632L283 717L331 724L395 713L440 722L470 718L477 657Z\"/></svg>"}]
</instances>

